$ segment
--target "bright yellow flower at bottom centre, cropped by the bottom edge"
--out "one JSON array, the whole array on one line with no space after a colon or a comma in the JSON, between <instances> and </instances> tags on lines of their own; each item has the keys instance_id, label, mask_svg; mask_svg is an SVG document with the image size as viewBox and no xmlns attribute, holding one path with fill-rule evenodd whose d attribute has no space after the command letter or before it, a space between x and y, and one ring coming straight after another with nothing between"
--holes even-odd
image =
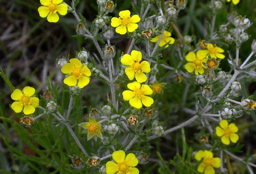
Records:
<instances>
[{"instance_id":1,"label":"bright yellow flower at bottom centre, cropped by the bottom edge","mask_svg":"<svg viewBox=\"0 0 256 174\"><path fill-rule=\"evenodd\" d=\"M134 154L130 153L125 157L124 151L114 151L112 158L115 162L106 163L106 174L139 174L139 170L135 168L139 161Z\"/></svg>"}]
</instances>

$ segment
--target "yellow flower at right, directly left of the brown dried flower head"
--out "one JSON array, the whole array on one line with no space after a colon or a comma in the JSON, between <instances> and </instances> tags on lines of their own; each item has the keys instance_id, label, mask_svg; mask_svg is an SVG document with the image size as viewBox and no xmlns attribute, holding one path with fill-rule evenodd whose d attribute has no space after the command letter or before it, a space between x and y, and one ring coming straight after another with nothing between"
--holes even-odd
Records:
<instances>
[{"instance_id":1,"label":"yellow flower at right, directly left of the brown dried flower head","mask_svg":"<svg viewBox=\"0 0 256 174\"><path fill-rule=\"evenodd\" d=\"M189 61L185 65L185 69L189 72L192 73L195 70L195 74L198 75L198 73L203 74L204 73L204 66L203 63L206 62L206 55L207 51L206 50L199 50L196 55L194 52L189 52L188 55L186 55L186 60Z\"/></svg>"}]
</instances>

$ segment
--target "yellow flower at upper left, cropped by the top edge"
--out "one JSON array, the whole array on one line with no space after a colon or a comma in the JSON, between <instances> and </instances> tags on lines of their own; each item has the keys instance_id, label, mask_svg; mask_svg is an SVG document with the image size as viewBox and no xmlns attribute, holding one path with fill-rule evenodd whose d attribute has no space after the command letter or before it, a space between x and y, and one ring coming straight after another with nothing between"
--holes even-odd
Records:
<instances>
[{"instance_id":1,"label":"yellow flower at upper left, cropped by the top edge","mask_svg":"<svg viewBox=\"0 0 256 174\"><path fill-rule=\"evenodd\" d=\"M40 0L43 6L38 8L40 17L47 17L48 22L58 22L58 14L67 14L67 4L63 0Z\"/></svg>"}]
</instances>

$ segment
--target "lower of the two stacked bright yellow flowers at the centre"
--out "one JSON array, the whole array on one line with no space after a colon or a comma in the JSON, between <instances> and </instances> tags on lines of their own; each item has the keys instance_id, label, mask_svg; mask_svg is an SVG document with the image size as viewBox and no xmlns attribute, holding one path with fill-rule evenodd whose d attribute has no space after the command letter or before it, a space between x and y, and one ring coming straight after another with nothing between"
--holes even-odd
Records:
<instances>
[{"instance_id":1,"label":"lower of the two stacked bright yellow flowers at the centre","mask_svg":"<svg viewBox=\"0 0 256 174\"><path fill-rule=\"evenodd\" d=\"M146 96L146 95L151 95L153 93L153 91L148 85L143 84L142 86L140 86L139 82L134 81L132 83L128 83L127 87L131 91L125 90L122 93L122 95L123 95L123 99L125 101L129 101L132 107L136 107L137 109L140 109L142 107L142 104L145 107L150 107L151 104L154 103L154 100L151 97Z\"/></svg>"}]
</instances>

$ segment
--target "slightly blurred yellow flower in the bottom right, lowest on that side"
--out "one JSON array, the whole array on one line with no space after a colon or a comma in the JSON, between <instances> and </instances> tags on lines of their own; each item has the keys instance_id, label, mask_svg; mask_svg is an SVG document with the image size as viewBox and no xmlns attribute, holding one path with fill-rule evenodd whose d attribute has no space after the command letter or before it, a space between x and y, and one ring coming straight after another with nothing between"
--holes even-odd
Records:
<instances>
[{"instance_id":1,"label":"slightly blurred yellow flower in the bottom right, lowest on that side","mask_svg":"<svg viewBox=\"0 0 256 174\"><path fill-rule=\"evenodd\" d=\"M210 151L198 151L195 154L195 159L203 161L198 165L198 171L203 174L215 174L214 168L221 167L221 159L218 157L213 158L213 154Z\"/></svg>"}]
</instances>

